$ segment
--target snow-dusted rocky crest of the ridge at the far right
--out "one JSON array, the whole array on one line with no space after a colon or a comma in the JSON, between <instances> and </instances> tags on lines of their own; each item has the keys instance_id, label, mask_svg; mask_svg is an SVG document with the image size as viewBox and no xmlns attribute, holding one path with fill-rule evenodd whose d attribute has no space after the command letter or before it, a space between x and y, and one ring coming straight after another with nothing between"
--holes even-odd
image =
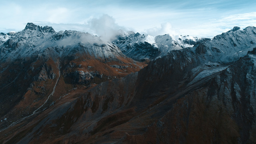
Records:
<instances>
[{"instance_id":1,"label":"snow-dusted rocky crest of the ridge at the far right","mask_svg":"<svg viewBox=\"0 0 256 144\"><path fill-rule=\"evenodd\" d=\"M244 30L235 26L232 30L206 39L195 45L197 53L207 53L205 59L216 62L231 62L247 54L256 47L256 27L249 26Z\"/></svg>"}]
</instances>

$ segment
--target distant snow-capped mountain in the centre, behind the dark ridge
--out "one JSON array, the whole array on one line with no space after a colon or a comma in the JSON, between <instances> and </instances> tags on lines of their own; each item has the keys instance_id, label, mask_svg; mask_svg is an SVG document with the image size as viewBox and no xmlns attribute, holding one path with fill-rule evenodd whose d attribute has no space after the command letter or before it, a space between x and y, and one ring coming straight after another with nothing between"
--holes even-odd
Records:
<instances>
[{"instance_id":1,"label":"distant snow-capped mountain in the centre, behind the dark ridge","mask_svg":"<svg viewBox=\"0 0 256 144\"><path fill-rule=\"evenodd\" d=\"M201 40L192 36L163 36L141 35L139 33L120 32L113 43L118 46L126 56L143 61L145 59L153 60L157 57L166 55L171 50L177 50L187 47L193 47L195 43Z\"/></svg>"}]
</instances>

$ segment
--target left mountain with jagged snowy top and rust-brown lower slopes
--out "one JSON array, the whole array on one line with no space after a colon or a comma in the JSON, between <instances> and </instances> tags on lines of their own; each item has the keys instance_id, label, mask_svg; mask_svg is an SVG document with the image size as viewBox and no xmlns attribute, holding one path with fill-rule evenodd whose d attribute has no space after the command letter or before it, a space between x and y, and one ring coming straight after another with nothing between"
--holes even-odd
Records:
<instances>
[{"instance_id":1,"label":"left mountain with jagged snowy top and rust-brown lower slopes","mask_svg":"<svg viewBox=\"0 0 256 144\"><path fill-rule=\"evenodd\" d=\"M1 34L1 41L0 129L36 116L73 88L90 88L146 66L98 36L33 23Z\"/></svg>"}]
</instances>

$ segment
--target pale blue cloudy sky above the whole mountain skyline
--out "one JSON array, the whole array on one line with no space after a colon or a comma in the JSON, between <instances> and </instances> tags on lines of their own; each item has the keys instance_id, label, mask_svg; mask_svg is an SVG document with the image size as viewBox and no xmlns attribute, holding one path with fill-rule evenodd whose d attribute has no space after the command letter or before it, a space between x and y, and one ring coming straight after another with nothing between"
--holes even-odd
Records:
<instances>
[{"instance_id":1,"label":"pale blue cloudy sky above the whole mountain skyline","mask_svg":"<svg viewBox=\"0 0 256 144\"><path fill-rule=\"evenodd\" d=\"M213 37L256 26L256 0L0 0L0 32L26 23L94 35L133 30L149 35Z\"/></svg>"}]
</instances>

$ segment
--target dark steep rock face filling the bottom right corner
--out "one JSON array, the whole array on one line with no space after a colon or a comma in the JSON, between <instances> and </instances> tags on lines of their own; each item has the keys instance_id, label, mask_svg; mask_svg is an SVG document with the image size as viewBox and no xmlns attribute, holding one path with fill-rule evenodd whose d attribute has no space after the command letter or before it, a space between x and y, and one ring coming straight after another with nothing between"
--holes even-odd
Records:
<instances>
[{"instance_id":1,"label":"dark steep rock face filling the bottom right corner","mask_svg":"<svg viewBox=\"0 0 256 144\"><path fill-rule=\"evenodd\" d=\"M254 56L245 56L198 87L185 86L183 96L176 100L170 96L172 106L147 132L132 139L127 136L124 142L138 143L154 137L150 142L255 143L254 60ZM158 109L167 107L165 101Z\"/></svg>"}]
</instances>

